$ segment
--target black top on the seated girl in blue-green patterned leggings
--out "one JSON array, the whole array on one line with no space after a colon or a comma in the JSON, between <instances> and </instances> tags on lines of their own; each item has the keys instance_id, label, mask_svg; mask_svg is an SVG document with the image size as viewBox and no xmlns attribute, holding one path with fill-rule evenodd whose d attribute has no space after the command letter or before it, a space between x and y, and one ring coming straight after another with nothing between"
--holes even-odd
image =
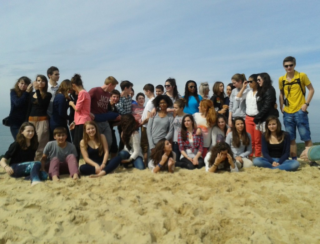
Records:
<instances>
[{"instance_id":1,"label":"black top on the seated girl in blue-green patterned leggings","mask_svg":"<svg viewBox=\"0 0 320 244\"><path fill-rule=\"evenodd\" d=\"M35 161L36 150L22 150L18 142L13 142L4 154L5 159L11 159L9 165Z\"/></svg>"}]
</instances>

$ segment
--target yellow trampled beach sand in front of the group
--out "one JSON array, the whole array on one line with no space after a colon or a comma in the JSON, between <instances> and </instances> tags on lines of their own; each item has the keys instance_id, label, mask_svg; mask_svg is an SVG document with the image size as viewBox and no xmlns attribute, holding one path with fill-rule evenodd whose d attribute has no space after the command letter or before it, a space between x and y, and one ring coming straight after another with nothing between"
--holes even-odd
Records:
<instances>
[{"instance_id":1,"label":"yellow trampled beach sand in front of the group","mask_svg":"<svg viewBox=\"0 0 320 244\"><path fill-rule=\"evenodd\" d=\"M319 169L118 168L30 187L0 173L0 243L320 243Z\"/></svg>"}]
</instances>

